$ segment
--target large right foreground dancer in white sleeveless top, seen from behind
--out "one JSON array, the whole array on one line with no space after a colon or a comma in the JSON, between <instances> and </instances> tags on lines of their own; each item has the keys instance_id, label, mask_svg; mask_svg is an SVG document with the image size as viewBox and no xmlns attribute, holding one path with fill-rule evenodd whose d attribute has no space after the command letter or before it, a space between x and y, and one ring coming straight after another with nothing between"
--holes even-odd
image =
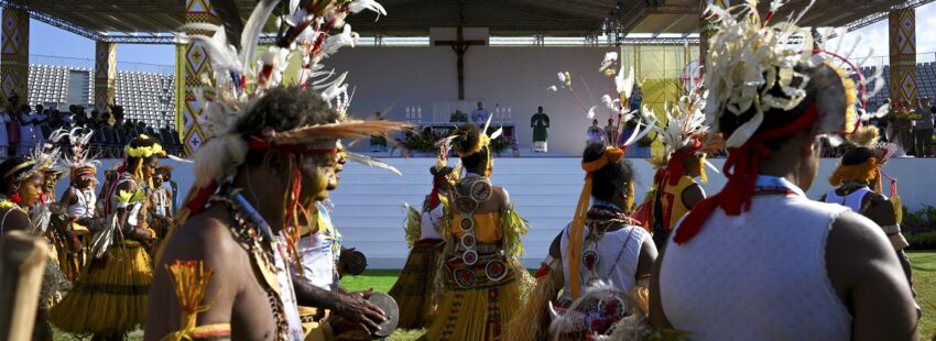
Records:
<instances>
[{"instance_id":1,"label":"large right foreground dancer in white sleeveless top, seen from behind","mask_svg":"<svg viewBox=\"0 0 936 341\"><path fill-rule=\"evenodd\" d=\"M771 24L771 10L708 8L719 20L706 114L726 136L728 183L673 232L651 276L651 319L694 340L912 339L910 286L880 228L803 189L818 135L855 131L864 96L823 51L783 38L812 46L795 22Z\"/></svg>"}]
</instances>

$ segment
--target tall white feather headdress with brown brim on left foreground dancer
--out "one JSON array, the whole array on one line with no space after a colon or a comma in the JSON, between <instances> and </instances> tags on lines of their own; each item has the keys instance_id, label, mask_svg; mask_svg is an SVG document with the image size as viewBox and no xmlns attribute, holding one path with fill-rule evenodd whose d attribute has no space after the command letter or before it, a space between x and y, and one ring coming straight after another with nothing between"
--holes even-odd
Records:
<instances>
[{"instance_id":1,"label":"tall white feather headdress with brown brim on left foreground dancer","mask_svg":"<svg viewBox=\"0 0 936 341\"><path fill-rule=\"evenodd\" d=\"M371 135L385 135L402 130L407 124L391 121L349 120L345 116L352 95L344 85L346 74L337 77L334 72L325 72L319 65L322 58L335 53L344 45L353 45L357 34L345 24L349 13L373 10L385 14L383 8L372 0L290 0L285 16L277 20L276 43L266 48L259 57L259 43L264 23L276 8L277 0L261 0L243 24L243 32L229 36L226 29L238 28L239 15L225 18L227 26L196 24L184 29L214 32L213 36L191 36L196 44L208 51L214 74L206 80L214 90L214 98L196 91L196 100L203 109L199 124L207 134L207 141L195 155L195 182L189 190L185 208L179 212L179 222L189 213L205 208L208 198L219 184L237 174L249 151L280 151L287 154L337 154L340 139L363 139ZM338 35L329 35L333 29L344 29ZM233 30L236 31L236 30ZM237 36L240 40L237 41ZM235 124L250 112L250 109L271 89L282 85L283 72L290 55L302 44L303 70L298 75L298 86L317 91L338 113L335 122L300 127L289 131L266 129L259 135L242 136L235 131ZM353 91L351 91L353 92ZM391 172L379 161L348 153L348 160L379 166ZM399 174L399 172L396 172ZM302 172L296 167L291 177L286 216L286 240L290 252L298 258L295 249L298 241L297 226L300 215L311 221L309 210L300 204L302 193Z\"/></svg>"}]
</instances>

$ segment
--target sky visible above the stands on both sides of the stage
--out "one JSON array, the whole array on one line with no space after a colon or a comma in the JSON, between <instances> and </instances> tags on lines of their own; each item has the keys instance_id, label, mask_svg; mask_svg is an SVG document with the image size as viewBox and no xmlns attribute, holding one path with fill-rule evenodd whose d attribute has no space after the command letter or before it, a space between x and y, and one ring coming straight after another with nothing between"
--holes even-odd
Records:
<instances>
[{"instance_id":1,"label":"sky visible above the stands on both sides of the stage","mask_svg":"<svg viewBox=\"0 0 936 341\"><path fill-rule=\"evenodd\" d=\"M936 28L936 4L929 3L917 9L917 32L925 28ZM861 37L859 48L853 56L882 56L888 53L888 21L881 21L863 28L850 35L842 46L852 46L857 36ZM917 34L917 52L930 53L918 57L919 62L936 61L936 34ZM31 20L30 54L59 57L89 58L95 55L95 44L83 36L59 30L48 24ZM173 65L175 47L173 45L118 45L117 59L128 63ZM36 62L33 62L36 63ZM57 64L50 62L50 64ZM118 65L121 67L121 65Z\"/></svg>"}]
</instances>

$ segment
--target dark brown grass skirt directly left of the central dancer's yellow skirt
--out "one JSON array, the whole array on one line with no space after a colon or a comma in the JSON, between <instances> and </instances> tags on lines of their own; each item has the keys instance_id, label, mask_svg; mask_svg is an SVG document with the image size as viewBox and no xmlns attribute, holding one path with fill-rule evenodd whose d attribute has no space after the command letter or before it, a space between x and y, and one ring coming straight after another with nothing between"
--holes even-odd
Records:
<instances>
[{"instance_id":1,"label":"dark brown grass skirt directly left of the central dancer's yellow skirt","mask_svg":"<svg viewBox=\"0 0 936 341\"><path fill-rule=\"evenodd\" d=\"M413 245L400 278L390 288L400 307L399 329L423 329L432 323L442 298L442 251L439 239L421 240Z\"/></svg>"}]
</instances>

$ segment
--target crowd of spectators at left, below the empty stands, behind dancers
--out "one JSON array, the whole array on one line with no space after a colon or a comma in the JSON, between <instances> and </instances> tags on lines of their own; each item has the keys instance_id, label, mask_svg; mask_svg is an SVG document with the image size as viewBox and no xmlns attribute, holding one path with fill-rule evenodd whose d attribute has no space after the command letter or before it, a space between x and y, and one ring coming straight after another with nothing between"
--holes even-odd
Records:
<instances>
[{"instance_id":1,"label":"crowd of spectators at left, below the empty stands, behind dancers","mask_svg":"<svg viewBox=\"0 0 936 341\"><path fill-rule=\"evenodd\" d=\"M142 120L129 119L120 106L108 111L90 112L81 106L69 106L68 111L47 109L42 105L30 107L18 105L17 96L10 98L10 105L0 112L0 155L28 155L36 146L48 140L58 129L94 131L90 147L96 155L120 157L121 148L133 138L145 134L156 139L172 154L181 154L182 142L174 127L151 127Z\"/></svg>"}]
</instances>

